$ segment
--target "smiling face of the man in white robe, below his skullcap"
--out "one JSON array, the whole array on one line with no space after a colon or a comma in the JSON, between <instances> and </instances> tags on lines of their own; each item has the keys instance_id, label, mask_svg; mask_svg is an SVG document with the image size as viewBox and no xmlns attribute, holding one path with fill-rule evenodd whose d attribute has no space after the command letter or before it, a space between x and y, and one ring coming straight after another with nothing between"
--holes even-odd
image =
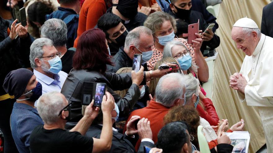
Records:
<instances>
[{"instance_id":1,"label":"smiling face of the man in white robe, below his skullcap","mask_svg":"<svg viewBox=\"0 0 273 153\"><path fill-rule=\"evenodd\" d=\"M259 28L235 26L231 30L231 38L235 41L237 49L242 49L247 56L251 56L259 43L261 31Z\"/></svg>"}]
</instances>

